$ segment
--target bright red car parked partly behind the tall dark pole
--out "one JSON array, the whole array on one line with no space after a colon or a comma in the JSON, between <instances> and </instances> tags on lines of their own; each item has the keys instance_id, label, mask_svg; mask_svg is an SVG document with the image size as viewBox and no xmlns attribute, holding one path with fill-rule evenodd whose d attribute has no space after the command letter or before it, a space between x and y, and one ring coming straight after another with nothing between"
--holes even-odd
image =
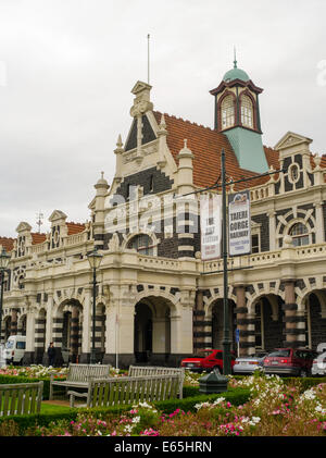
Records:
<instances>
[{"instance_id":1,"label":"bright red car parked partly behind the tall dark pole","mask_svg":"<svg viewBox=\"0 0 326 458\"><path fill-rule=\"evenodd\" d=\"M231 351L231 368L235 366L236 357ZM223 351L222 350L199 350L199 356L185 358L181 360L181 368L189 369L193 372L211 371L218 368L223 373Z\"/></svg>"}]
</instances>

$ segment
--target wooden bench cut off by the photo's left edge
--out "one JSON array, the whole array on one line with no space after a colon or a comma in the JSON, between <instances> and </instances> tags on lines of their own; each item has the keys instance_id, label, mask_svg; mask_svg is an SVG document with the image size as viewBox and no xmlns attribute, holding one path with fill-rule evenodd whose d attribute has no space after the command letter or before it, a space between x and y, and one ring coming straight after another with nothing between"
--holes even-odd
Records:
<instances>
[{"instance_id":1,"label":"wooden bench cut off by the photo's left edge","mask_svg":"<svg viewBox=\"0 0 326 458\"><path fill-rule=\"evenodd\" d=\"M0 385L0 417L39 413L43 382Z\"/></svg>"}]
</instances>

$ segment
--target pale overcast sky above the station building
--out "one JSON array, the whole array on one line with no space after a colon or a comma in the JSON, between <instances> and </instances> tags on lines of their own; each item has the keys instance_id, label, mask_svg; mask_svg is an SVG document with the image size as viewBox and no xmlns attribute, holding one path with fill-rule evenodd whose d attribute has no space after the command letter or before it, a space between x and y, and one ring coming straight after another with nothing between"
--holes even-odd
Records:
<instances>
[{"instance_id":1,"label":"pale overcast sky above the station building","mask_svg":"<svg viewBox=\"0 0 326 458\"><path fill-rule=\"evenodd\" d=\"M114 175L130 90L154 109L213 126L213 97L238 66L264 92L263 141L288 131L326 152L324 0L0 0L0 235L21 221L42 232L54 209L89 219L93 184Z\"/></svg>"}]
</instances>

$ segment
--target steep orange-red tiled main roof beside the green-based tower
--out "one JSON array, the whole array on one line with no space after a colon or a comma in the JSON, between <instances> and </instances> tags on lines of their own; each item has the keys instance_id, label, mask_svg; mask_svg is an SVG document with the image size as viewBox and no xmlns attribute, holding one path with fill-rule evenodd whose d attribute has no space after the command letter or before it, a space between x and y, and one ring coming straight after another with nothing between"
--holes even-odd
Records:
<instances>
[{"instance_id":1,"label":"steep orange-red tiled main roof beside the green-based tower","mask_svg":"<svg viewBox=\"0 0 326 458\"><path fill-rule=\"evenodd\" d=\"M158 124L161 122L162 113L153 112ZM192 151L193 159L193 184L198 187L212 186L221 174L221 151L225 151L225 169L227 177L233 181L259 175L255 172L241 169L237 157L227 139L227 137L217 131L198 125L180 117L171 116L164 113L167 146L178 163L177 154L184 148L184 139L187 139L187 147ZM273 148L264 147L268 165L275 170L279 169L278 152ZM258 186L266 183L268 176L255 178L238 185L238 189L244 187Z\"/></svg>"}]
</instances>

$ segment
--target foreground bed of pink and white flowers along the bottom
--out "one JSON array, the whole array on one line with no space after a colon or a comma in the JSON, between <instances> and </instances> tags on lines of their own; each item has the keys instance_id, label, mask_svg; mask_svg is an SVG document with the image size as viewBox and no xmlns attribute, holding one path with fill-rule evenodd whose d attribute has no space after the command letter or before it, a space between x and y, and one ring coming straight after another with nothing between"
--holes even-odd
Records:
<instances>
[{"instance_id":1,"label":"foreground bed of pink and white flowers along the bottom","mask_svg":"<svg viewBox=\"0 0 326 458\"><path fill-rule=\"evenodd\" d=\"M326 434L326 383L302 389L300 380L255 374L230 377L222 395L139 404L122 409L72 410L62 419L25 425L24 435L42 436L323 436ZM244 395L246 394L246 395ZM234 396L234 398L233 398ZM242 398L241 398L242 396ZM240 404L240 400L242 403ZM191 404L191 409L188 407ZM167 403L168 404L168 403ZM176 407L179 405L179 407ZM173 407L173 410L171 410ZM14 419L0 434L18 434ZM26 423L27 424L27 423ZM22 433L22 432L21 432Z\"/></svg>"}]
</instances>

